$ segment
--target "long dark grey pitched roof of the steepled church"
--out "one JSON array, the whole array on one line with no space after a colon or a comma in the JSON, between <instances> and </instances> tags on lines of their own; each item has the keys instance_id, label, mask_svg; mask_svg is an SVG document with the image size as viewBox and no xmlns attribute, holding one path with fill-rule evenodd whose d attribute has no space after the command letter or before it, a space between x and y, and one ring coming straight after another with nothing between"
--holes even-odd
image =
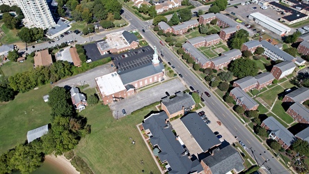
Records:
<instances>
[{"instance_id":1,"label":"long dark grey pitched roof of the steepled church","mask_svg":"<svg viewBox=\"0 0 309 174\"><path fill-rule=\"evenodd\" d=\"M122 83L126 85L139 79L158 74L162 72L162 70L164 70L164 65L162 63L159 63L157 66L152 65L152 63L146 63L136 68L118 72L118 74L120 74Z\"/></svg>"}]
</instances>

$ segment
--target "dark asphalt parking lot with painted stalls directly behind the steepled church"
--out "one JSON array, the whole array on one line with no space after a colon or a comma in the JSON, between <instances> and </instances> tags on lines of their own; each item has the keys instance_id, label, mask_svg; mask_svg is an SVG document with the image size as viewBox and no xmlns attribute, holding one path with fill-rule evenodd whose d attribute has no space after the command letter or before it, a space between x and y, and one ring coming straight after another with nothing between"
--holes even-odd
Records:
<instances>
[{"instance_id":1,"label":"dark asphalt parking lot with painted stalls directly behind the steepled church","mask_svg":"<svg viewBox=\"0 0 309 174\"><path fill-rule=\"evenodd\" d=\"M131 52L112 55L112 57L116 69L118 70L118 72L122 72L150 63L152 61L153 54L154 50L152 49L152 47L147 46L139 49L134 49Z\"/></svg>"}]
</instances>

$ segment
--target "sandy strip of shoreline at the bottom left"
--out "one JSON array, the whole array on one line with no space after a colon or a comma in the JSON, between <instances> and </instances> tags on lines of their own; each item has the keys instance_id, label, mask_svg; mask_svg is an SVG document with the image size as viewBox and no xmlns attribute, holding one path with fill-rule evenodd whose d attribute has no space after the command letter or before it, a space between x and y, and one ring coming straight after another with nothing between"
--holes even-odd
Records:
<instances>
[{"instance_id":1,"label":"sandy strip of shoreline at the bottom left","mask_svg":"<svg viewBox=\"0 0 309 174\"><path fill-rule=\"evenodd\" d=\"M65 174L79 174L79 172L72 166L70 161L66 159L63 155L58 155L55 157L54 155L47 155L45 156L45 162L52 164L60 171Z\"/></svg>"}]
</instances>

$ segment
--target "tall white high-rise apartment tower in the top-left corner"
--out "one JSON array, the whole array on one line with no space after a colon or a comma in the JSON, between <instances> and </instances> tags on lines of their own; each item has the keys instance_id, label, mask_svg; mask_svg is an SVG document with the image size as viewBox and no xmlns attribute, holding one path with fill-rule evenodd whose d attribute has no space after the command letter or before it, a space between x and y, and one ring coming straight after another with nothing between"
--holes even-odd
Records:
<instances>
[{"instance_id":1,"label":"tall white high-rise apartment tower in the top-left corner","mask_svg":"<svg viewBox=\"0 0 309 174\"><path fill-rule=\"evenodd\" d=\"M46 0L0 0L1 4L19 6L26 21L38 28L49 29L56 25Z\"/></svg>"}]
</instances>

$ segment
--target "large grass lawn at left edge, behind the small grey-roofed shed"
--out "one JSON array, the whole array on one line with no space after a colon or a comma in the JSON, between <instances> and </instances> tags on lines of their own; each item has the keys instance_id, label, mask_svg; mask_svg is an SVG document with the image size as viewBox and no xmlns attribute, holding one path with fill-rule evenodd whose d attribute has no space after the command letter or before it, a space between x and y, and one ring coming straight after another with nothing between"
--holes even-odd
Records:
<instances>
[{"instance_id":1,"label":"large grass lawn at left edge, behind the small grey-roofed shed","mask_svg":"<svg viewBox=\"0 0 309 174\"><path fill-rule=\"evenodd\" d=\"M29 130L51 122L50 107L42 98L49 90L49 84L40 86L0 106L0 154L24 143Z\"/></svg>"}]
</instances>

